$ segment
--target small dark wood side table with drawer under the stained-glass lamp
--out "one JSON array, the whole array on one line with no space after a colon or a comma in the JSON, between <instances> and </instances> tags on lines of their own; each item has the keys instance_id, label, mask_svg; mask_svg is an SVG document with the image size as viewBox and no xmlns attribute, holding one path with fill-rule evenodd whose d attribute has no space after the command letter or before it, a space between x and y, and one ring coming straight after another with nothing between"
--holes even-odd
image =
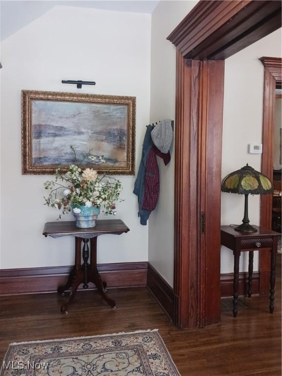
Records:
<instances>
[{"instance_id":1,"label":"small dark wood side table with drawer under the stained-glass lamp","mask_svg":"<svg viewBox=\"0 0 282 376\"><path fill-rule=\"evenodd\" d=\"M271 252L271 273L270 273L270 303L269 312L274 310L274 287L276 254L279 233L254 226L256 233L239 233L233 226L221 226L221 244L233 250L234 255L234 282L233 282L233 315L237 316L238 306L238 281L239 281L239 259L241 252L249 252L249 277L248 277L248 297L252 296L252 275L254 250L260 252Z\"/></svg>"}]
</instances>

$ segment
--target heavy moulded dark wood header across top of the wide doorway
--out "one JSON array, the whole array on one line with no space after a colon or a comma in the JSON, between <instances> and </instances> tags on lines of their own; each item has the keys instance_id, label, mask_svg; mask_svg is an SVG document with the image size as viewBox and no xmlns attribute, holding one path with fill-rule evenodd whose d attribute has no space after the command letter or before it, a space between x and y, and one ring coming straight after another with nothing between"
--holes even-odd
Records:
<instances>
[{"instance_id":1,"label":"heavy moulded dark wood header across top of the wide doorway","mask_svg":"<svg viewBox=\"0 0 282 376\"><path fill-rule=\"evenodd\" d=\"M281 27L281 1L200 0L167 39L189 59L221 60Z\"/></svg>"}]
</instances>

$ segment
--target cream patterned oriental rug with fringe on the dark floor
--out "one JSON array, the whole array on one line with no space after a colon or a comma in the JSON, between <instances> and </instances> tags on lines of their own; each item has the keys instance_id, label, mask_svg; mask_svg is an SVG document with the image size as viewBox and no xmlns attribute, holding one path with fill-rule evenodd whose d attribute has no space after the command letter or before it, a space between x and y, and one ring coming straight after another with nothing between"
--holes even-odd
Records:
<instances>
[{"instance_id":1,"label":"cream patterned oriental rug with fringe on the dark floor","mask_svg":"<svg viewBox=\"0 0 282 376\"><path fill-rule=\"evenodd\" d=\"M0 376L180 376L157 330L13 343Z\"/></svg>"}]
</instances>

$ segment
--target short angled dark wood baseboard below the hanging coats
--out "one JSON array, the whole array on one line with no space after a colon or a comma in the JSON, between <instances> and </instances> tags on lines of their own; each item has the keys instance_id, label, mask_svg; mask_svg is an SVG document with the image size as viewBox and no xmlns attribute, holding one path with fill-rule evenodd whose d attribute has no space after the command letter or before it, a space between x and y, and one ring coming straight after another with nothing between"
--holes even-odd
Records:
<instances>
[{"instance_id":1,"label":"short angled dark wood baseboard below the hanging coats","mask_svg":"<svg viewBox=\"0 0 282 376\"><path fill-rule=\"evenodd\" d=\"M148 263L147 288L157 300L164 312L174 322L175 294L173 288L161 277L156 269Z\"/></svg>"}]
</instances>

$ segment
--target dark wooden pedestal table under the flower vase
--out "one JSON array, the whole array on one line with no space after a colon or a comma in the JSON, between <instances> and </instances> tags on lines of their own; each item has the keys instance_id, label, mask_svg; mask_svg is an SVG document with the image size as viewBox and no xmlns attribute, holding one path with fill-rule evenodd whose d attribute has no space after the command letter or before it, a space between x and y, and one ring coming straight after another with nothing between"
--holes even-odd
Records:
<instances>
[{"instance_id":1,"label":"dark wooden pedestal table under the flower vase","mask_svg":"<svg viewBox=\"0 0 282 376\"><path fill-rule=\"evenodd\" d=\"M102 282L97 270L97 237L106 234L120 235L127 233L129 228L120 219L97 220L96 226L88 229L80 229L75 226L75 221L47 222L44 226L43 235L51 237L75 236L75 265L71 270L68 282L58 287L58 293L64 295L65 291L71 288L69 300L61 306L61 312L68 314L68 306L73 301L76 290L80 283L83 288L88 288L88 283L93 282L102 298L113 309L116 309L116 303L106 294L106 282ZM89 259L89 239L91 258ZM81 264L81 244L83 242Z\"/></svg>"}]
</instances>

